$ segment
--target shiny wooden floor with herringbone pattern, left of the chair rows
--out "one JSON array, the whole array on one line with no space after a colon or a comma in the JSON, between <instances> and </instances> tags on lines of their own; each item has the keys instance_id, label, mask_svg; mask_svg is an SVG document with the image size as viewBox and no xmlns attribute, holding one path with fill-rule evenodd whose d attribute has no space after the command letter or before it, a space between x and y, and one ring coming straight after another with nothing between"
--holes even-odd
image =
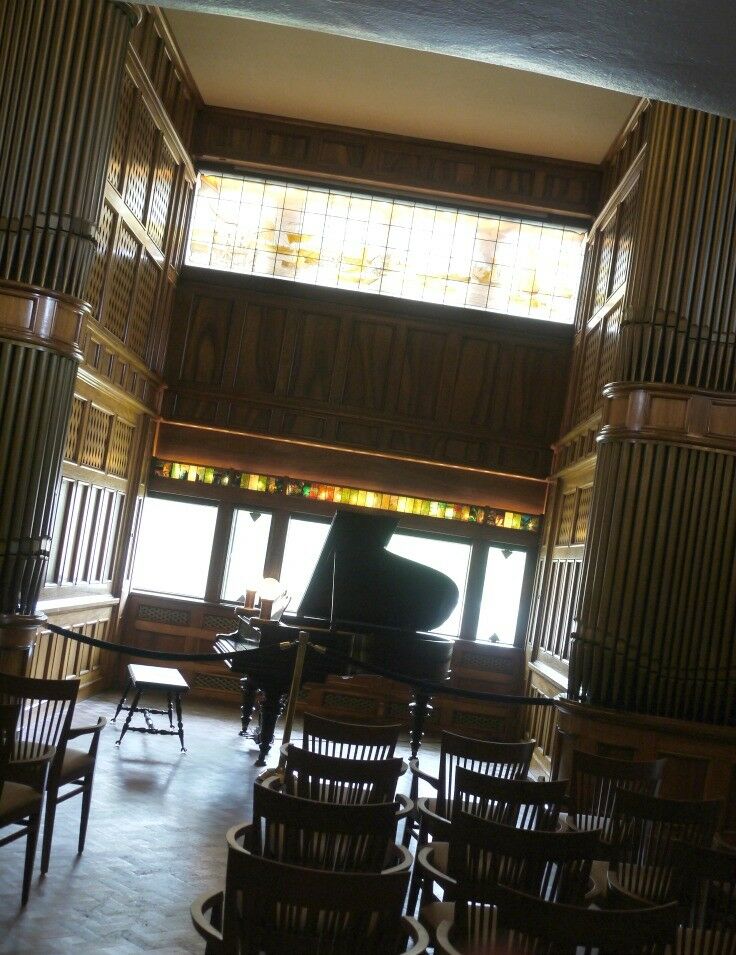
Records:
<instances>
[{"instance_id":1,"label":"shiny wooden floor with herringbone pattern, left of the chair rows","mask_svg":"<svg viewBox=\"0 0 736 955\"><path fill-rule=\"evenodd\" d=\"M111 717L105 695L77 707L77 725ZM154 717L165 720L164 717ZM128 955L204 952L189 905L223 880L225 832L250 818L256 747L238 736L236 706L184 699L188 752L176 737L102 733L87 845L77 855L81 799L59 806L48 874L20 908L25 840L0 849L0 952L12 955ZM162 724L163 725L163 724ZM298 740L297 740L298 741ZM408 742L401 754L408 753ZM277 747L271 764L278 760ZM436 747L425 751L434 771ZM408 791L409 774L401 780Z\"/></svg>"}]
</instances>

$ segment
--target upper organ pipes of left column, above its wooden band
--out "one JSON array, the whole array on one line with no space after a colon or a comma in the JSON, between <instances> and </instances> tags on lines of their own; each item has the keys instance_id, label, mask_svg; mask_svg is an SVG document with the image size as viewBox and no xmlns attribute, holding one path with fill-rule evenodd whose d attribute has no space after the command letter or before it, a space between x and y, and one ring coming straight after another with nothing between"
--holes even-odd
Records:
<instances>
[{"instance_id":1,"label":"upper organ pipes of left column, above its wooden band","mask_svg":"<svg viewBox=\"0 0 736 955\"><path fill-rule=\"evenodd\" d=\"M0 7L0 140L33 144L0 158L4 279L82 297L120 82L95 64L120 63L132 17L114 3Z\"/></svg>"}]
</instances>

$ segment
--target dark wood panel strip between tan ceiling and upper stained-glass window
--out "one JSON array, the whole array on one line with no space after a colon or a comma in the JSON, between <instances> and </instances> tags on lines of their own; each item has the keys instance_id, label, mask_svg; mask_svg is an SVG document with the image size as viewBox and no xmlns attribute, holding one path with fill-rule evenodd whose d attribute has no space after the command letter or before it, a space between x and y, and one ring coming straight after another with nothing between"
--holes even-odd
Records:
<instances>
[{"instance_id":1,"label":"dark wood panel strip between tan ceiling and upper stained-glass window","mask_svg":"<svg viewBox=\"0 0 736 955\"><path fill-rule=\"evenodd\" d=\"M599 205L599 166L239 110L205 107L192 154L199 165L228 163L581 223Z\"/></svg>"}]
</instances>

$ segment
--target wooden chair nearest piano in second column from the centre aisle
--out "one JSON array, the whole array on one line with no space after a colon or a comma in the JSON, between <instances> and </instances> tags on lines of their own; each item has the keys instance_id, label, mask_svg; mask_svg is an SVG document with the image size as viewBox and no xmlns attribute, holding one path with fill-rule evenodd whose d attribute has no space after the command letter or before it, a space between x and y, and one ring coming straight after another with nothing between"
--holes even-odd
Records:
<instances>
[{"instance_id":1,"label":"wooden chair nearest piano in second column from the centre aisle","mask_svg":"<svg viewBox=\"0 0 736 955\"><path fill-rule=\"evenodd\" d=\"M418 831L415 825L407 824L404 830L404 845L409 845L412 835L417 839L417 846L424 845L430 837L445 840L449 838L458 768L470 769L486 776L497 776L500 779L526 779L534 746L534 740L498 743L456 736L454 733L442 733L439 776L430 776L421 770L418 760L409 761L414 782L418 784L418 780L424 780L437 790L437 795L417 799ZM408 902L410 912L416 907L419 878L417 872L411 881Z\"/></svg>"}]
</instances>

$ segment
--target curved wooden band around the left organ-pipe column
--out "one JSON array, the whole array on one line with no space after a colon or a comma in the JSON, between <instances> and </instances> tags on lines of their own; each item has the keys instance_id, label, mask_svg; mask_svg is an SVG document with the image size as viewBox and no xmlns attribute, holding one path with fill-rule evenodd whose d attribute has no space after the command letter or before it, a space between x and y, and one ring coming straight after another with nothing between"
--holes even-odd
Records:
<instances>
[{"instance_id":1,"label":"curved wooden band around the left organ-pipe column","mask_svg":"<svg viewBox=\"0 0 736 955\"><path fill-rule=\"evenodd\" d=\"M0 338L40 345L77 361L90 308L48 289L0 280Z\"/></svg>"}]
</instances>

